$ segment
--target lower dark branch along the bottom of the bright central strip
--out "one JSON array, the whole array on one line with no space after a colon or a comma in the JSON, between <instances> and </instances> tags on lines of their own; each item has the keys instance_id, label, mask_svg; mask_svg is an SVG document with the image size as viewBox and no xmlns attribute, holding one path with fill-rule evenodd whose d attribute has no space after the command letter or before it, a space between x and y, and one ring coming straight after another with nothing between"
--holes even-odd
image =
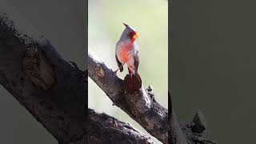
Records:
<instances>
[{"instance_id":1,"label":"lower dark branch along the bottom of the bright central strip","mask_svg":"<svg viewBox=\"0 0 256 144\"><path fill-rule=\"evenodd\" d=\"M120 122L107 114L97 114L89 109L88 142L102 143L153 143L150 137L135 130L129 123Z\"/></svg>"}]
</instances>

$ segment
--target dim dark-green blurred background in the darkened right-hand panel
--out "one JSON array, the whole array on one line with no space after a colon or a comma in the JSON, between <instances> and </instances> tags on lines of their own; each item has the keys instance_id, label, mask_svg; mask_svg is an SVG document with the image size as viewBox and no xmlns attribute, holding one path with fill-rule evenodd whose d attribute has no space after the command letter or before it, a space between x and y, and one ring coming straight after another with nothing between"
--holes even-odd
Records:
<instances>
[{"instance_id":1,"label":"dim dark-green blurred background in the darkened right-hand panel","mask_svg":"<svg viewBox=\"0 0 256 144\"><path fill-rule=\"evenodd\" d=\"M171 6L172 101L206 115L219 144L256 143L255 1L179 0Z\"/></svg>"}]
</instances>

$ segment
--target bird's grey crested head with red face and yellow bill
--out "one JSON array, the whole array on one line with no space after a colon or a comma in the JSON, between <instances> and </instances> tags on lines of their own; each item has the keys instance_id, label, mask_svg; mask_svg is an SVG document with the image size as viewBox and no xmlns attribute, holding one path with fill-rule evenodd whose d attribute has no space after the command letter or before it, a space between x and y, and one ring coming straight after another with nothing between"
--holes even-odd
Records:
<instances>
[{"instance_id":1,"label":"bird's grey crested head with red face and yellow bill","mask_svg":"<svg viewBox=\"0 0 256 144\"><path fill-rule=\"evenodd\" d=\"M121 39L126 40L130 39L130 42L134 42L138 38L138 32L133 27L128 26L123 22L123 25L126 26L126 29L123 30Z\"/></svg>"}]
</instances>

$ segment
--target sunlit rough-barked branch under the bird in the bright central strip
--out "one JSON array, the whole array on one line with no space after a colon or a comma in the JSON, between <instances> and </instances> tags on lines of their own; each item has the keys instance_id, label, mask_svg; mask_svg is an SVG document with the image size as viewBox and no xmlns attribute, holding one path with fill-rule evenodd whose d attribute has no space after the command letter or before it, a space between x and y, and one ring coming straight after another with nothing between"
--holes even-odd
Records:
<instances>
[{"instance_id":1,"label":"sunlit rough-barked branch under the bird in the bright central strip","mask_svg":"<svg viewBox=\"0 0 256 144\"><path fill-rule=\"evenodd\" d=\"M88 75L114 102L138 122L155 138L168 143L168 110L158 104L154 99L151 88L138 93L130 94L124 90L124 82L118 78L100 59L92 52L88 56Z\"/></svg>"}]
</instances>

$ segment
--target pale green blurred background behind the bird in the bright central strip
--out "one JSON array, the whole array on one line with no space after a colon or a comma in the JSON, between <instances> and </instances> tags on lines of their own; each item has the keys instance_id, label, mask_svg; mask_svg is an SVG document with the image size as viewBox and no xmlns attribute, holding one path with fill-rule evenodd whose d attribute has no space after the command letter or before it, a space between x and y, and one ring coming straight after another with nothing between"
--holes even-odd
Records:
<instances>
[{"instance_id":1,"label":"pale green blurred background behind the bird in the bright central strip","mask_svg":"<svg viewBox=\"0 0 256 144\"><path fill-rule=\"evenodd\" d=\"M165 0L89 0L88 3L88 45L106 66L118 68L114 54L125 26L122 22L138 30L137 44L140 50L139 74L144 87L152 84L157 101L167 105L168 90L168 2ZM128 74L127 67L119 78ZM134 120L112 102L106 94L89 78L88 106L98 112L110 114L123 122L130 122L142 130ZM156 139L155 142L159 143Z\"/></svg>"}]
</instances>

